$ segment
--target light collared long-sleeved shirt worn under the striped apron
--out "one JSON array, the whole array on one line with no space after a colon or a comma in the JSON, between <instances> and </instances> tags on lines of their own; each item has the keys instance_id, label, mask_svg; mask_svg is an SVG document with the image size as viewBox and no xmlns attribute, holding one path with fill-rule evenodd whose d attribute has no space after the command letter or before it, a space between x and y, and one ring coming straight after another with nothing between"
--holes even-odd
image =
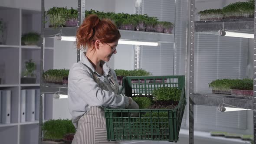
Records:
<instances>
[{"instance_id":1,"label":"light collared long-sleeved shirt worn under the striped apron","mask_svg":"<svg viewBox=\"0 0 256 144\"><path fill-rule=\"evenodd\" d=\"M98 79L113 78L117 83L115 71L110 69L105 62L102 63L103 75L98 74L89 62L85 54L81 56L80 62L72 65L69 70L68 100L69 112L72 115L72 123L75 128L79 118L92 106L103 108L127 108L129 99L127 96L118 95L115 92L106 91L93 79L93 74Z\"/></svg>"}]
</instances>

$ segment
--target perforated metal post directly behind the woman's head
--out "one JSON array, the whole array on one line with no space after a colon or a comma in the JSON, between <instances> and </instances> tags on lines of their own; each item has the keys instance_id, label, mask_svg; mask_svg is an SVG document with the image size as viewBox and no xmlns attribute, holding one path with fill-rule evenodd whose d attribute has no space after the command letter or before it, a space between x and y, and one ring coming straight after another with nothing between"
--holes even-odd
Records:
<instances>
[{"instance_id":1,"label":"perforated metal post directly behind the woman's head","mask_svg":"<svg viewBox=\"0 0 256 144\"><path fill-rule=\"evenodd\" d=\"M78 27L81 26L85 19L85 0L78 0ZM80 49L77 49L77 62L80 61Z\"/></svg>"}]
</instances>

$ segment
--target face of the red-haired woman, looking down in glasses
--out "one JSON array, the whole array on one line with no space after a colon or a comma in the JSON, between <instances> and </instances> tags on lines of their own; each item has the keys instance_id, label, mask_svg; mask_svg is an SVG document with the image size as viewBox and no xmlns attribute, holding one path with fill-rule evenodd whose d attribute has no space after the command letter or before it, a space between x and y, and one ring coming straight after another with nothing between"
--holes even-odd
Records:
<instances>
[{"instance_id":1,"label":"face of the red-haired woman, looking down in glasses","mask_svg":"<svg viewBox=\"0 0 256 144\"><path fill-rule=\"evenodd\" d=\"M103 43L100 42L98 49L99 59L108 62L113 54L116 54L116 47L118 45L118 40L113 43Z\"/></svg>"}]
</instances>

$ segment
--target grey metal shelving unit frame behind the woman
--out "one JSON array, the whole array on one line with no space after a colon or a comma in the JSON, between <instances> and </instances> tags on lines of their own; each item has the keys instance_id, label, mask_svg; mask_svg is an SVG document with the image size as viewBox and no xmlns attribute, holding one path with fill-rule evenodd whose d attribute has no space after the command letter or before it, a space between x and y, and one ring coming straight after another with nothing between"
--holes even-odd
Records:
<instances>
[{"instance_id":1,"label":"grey metal shelving unit frame behind the woman","mask_svg":"<svg viewBox=\"0 0 256 144\"><path fill-rule=\"evenodd\" d=\"M42 13L45 12L44 9L44 0L42 0ZM78 0L78 12L79 12L79 23L78 27L81 25L82 21L85 18L85 0ZM64 28L45 28L44 25L44 14L41 15L41 35L45 37L54 37L59 36L70 36L75 37L78 27L64 27ZM121 39L124 40L133 40L133 41L146 41L146 42L158 42L158 43L174 43L174 34L167 33L152 33L152 32L141 32L141 31L129 31L121 30ZM45 57L45 38L42 38L41 42L41 75L44 72L44 63L43 59ZM80 50L77 50L77 62L80 61ZM43 97L45 94L58 94L67 95L68 85L54 85L54 84L44 84L43 78L40 78L40 115L39 115L39 144L42 144L42 124L43 124Z\"/></svg>"}]
</instances>

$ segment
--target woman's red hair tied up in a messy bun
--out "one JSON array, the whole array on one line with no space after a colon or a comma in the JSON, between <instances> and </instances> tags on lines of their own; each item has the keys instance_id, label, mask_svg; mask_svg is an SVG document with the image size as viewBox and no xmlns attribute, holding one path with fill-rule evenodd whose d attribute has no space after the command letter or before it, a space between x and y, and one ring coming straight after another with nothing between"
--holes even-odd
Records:
<instances>
[{"instance_id":1,"label":"woman's red hair tied up in a messy bun","mask_svg":"<svg viewBox=\"0 0 256 144\"><path fill-rule=\"evenodd\" d=\"M103 43L113 43L120 37L117 26L111 20L100 20L97 15L91 14L76 32L76 46L78 49L85 49L92 47L97 39Z\"/></svg>"}]
</instances>

